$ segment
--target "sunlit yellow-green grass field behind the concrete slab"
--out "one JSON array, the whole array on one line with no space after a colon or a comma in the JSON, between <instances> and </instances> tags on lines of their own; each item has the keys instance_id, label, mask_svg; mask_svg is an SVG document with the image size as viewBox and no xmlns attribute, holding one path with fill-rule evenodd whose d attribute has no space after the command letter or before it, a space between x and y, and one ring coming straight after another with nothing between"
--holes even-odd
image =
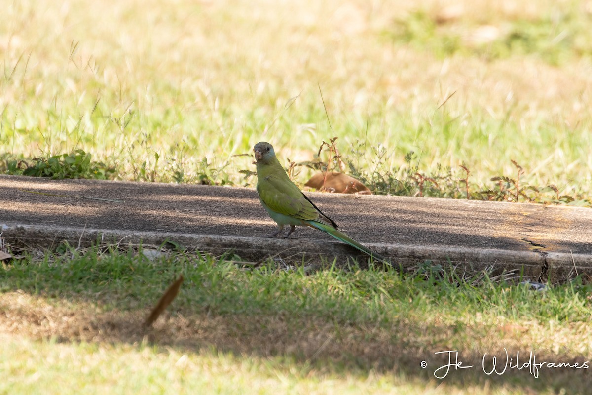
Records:
<instances>
[{"instance_id":1,"label":"sunlit yellow-green grass field behind the concrete slab","mask_svg":"<svg viewBox=\"0 0 592 395\"><path fill-rule=\"evenodd\" d=\"M269 140L288 165L339 137L369 179L450 172L458 184L465 166L471 189L488 191L491 178L514 178L514 160L548 189L541 201L590 204L584 2L105 7L7 8L3 171L83 150L110 178L252 185L252 160L235 155L254 143ZM497 33L483 43L484 31ZM459 195L447 184L432 195Z\"/></svg>"}]
</instances>

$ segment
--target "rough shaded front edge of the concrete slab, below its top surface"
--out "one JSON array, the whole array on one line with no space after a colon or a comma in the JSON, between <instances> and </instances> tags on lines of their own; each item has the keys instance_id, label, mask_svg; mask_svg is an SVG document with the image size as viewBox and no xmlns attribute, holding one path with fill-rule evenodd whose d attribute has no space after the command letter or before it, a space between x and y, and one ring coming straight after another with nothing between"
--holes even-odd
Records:
<instances>
[{"instance_id":1,"label":"rough shaded front edge of the concrete slab, below its top surface","mask_svg":"<svg viewBox=\"0 0 592 395\"><path fill-rule=\"evenodd\" d=\"M367 257L339 242L307 239L265 239L263 237L191 235L187 233L133 232L128 230L81 229L52 226L31 226L15 223L0 224L2 237L17 246L55 248L66 241L70 245L88 247L93 244L113 245L162 245L170 240L183 248L221 255L233 252L247 261L258 262L274 256L286 262L321 264L337 257L346 262L348 257L367 262ZM562 282L578 274L592 274L592 257L566 253L542 253L538 251L504 251L500 249L473 249L442 246L414 246L399 244L368 244L370 248L402 269L416 267L424 261L434 264L452 264L468 272L487 268L493 273L516 270L531 280Z\"/></svg>"}]
</instances>

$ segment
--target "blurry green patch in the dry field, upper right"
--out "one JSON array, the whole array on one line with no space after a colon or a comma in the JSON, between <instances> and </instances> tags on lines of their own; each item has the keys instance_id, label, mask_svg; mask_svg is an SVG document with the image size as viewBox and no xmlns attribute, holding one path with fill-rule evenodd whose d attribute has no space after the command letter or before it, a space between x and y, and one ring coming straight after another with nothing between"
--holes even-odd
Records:
<instances>
[{"instance_id":1,"label":"blurry green patch in the dry field, upper right","mask_svg":"<svg viewBox=\"0 0 592 395\"><path fill-rule=\"evenodd\" d=\"M446 9L404 14L385 30L385 36L443 59L460 54L493 62L532 56L561 66L592 54L587 28L592 18L590 12L581 12L577 1L543 7L530 17L488 14L466 18L460 11L442 11Z\"/></svg>"}]
</instances>

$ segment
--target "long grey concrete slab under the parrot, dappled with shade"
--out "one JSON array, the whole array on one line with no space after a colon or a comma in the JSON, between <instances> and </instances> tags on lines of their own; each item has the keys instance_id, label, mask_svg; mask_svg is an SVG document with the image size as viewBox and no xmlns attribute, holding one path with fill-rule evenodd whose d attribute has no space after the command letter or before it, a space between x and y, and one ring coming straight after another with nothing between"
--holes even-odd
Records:
<instances>
[{"instance_id":1,"label":"long grey concrete slab under the parrot, dappled with shade","mask_svg":"<svg viewBox=\"0 0 592 395\"><path fill-rule=\"evenodd\" d=\"M474 269L520 268L536 280L592 275L589 208L307 195L343 232L403 268L430 259ZM275 223L250 188L0 176L0 226L7 242L44 248L62 240L158 245L169 239L200 251L232 250L251 261L269 255L297 262L321 256L366 260L308 227L297 229L297 239L259 237Z\"/></svg>"}]
</instances>

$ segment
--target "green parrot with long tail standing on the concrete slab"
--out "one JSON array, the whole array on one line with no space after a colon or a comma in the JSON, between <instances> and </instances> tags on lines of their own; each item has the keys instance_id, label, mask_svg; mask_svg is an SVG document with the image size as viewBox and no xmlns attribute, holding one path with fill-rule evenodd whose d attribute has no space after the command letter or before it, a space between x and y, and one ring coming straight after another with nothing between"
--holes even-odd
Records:
<instances>
[{"instance_id":1,"label":"green parrot with long tail standing on the concrete slab","mask_svg":"<svg viewBox=\"0 0 592 395\"><path fill-rule=\"evenodd\" d=\"M390 265L384 256L372 252L343 232L337 230L335 221L327 217L310 201L306 195L289 178L278 158L274 147L266 142L255 144L257 160L257 194L263 208L278 224L278 231L265 237L275 237L289 225L287 238L294 232L296 225L311 226L333 236L340 242L349 244L355 249L368 254L371 258Z\"/></svg>"}]
</instances>

